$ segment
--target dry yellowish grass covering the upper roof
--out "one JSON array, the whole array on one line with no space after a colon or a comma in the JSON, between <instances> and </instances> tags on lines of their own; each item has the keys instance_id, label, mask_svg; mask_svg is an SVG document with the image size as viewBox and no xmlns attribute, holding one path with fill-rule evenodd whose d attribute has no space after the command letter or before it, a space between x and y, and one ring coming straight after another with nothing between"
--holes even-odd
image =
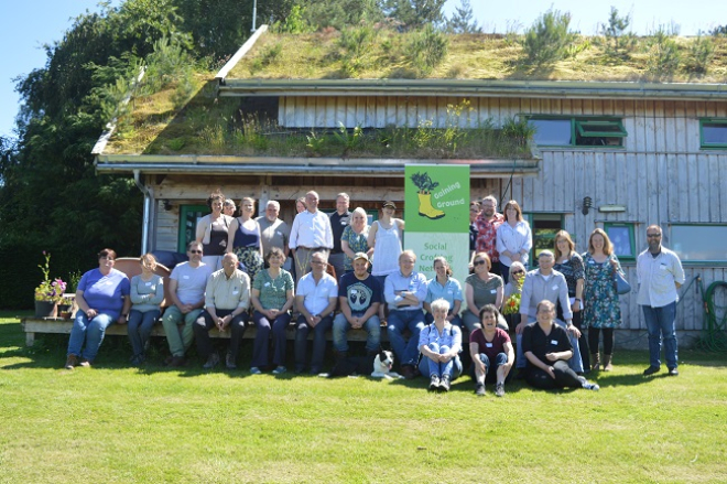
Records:
<instances>
[{"instance_id":1,"label":"dry yellowish grass covering the upper roof","mask_svg":"<svg viewBox=\"0 0 727 484\"><path fill-rule=\"evenodd\" d=\"M284 34L265 32L232 68L229 78L325 79L422 77L408 53L414 33L377 31L370 43L351 54L339 45L340 33ZM427 78L532 79L532 80L653 80L648 71L651 37L634 37L627 55L606 53L604 37L580 36L572 56L552 66L533 67L521 62L522 36L449 34L448 53ZM709 37L714 55L706 74L690 71L690 46L696 39L674 37L682 56L680 68L662 80L721 83L727 76L727 39ZM368 41L367 41L368 42Z\"/></svg>"}]
</instances>

